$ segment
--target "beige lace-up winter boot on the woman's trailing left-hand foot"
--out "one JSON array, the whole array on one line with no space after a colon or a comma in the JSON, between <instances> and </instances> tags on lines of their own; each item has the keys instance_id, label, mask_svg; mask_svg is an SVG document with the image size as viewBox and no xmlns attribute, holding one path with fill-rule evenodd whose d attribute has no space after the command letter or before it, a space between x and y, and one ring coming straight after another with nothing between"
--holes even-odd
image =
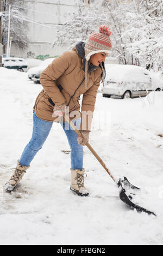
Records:
<instances>
[{"instance_id":1,"label":"beige lace-up winter boot on the woman's trailing left-hand foot","mask_svg":"<svg viewBox=\"0 0 163 256\"><path fill-rule=\"evenodd\" d=\"M14 174L11 176L9 182L6 183L4 186L6 192L11 192L16 187L16 185L21 181L24 173L29 168L29 166L23 166L17 160L16 168L12 169L14 170Z\"/></svg>"}]
</instances>

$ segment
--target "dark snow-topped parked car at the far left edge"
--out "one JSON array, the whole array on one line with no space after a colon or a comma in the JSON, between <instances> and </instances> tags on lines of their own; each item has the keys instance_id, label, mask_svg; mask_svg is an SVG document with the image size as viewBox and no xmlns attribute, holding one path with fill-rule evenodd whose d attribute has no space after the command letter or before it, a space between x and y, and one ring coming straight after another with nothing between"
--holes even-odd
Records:
<instances>
[{"instance_id":1,"label":"dark snow-topped parked car at the far left edge","mask_svg":"<svg viewBox=\"0 0 163 256\"><path fill-rule=\"evenodd\" d=\"M2 67L9 69L16 69L20 72L27 72L28 64L23 58L2 58Z\"/></svg>"}]
</instances>

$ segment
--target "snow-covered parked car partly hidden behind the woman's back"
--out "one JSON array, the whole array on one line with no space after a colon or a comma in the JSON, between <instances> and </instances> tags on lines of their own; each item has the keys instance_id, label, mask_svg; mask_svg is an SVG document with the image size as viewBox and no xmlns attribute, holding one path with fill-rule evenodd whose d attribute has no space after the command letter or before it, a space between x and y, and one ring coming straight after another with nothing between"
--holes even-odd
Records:
<instances>
[{"instance_id":1,"label":"snow-covered parked car partly hidden behind the woman's back","mask_svg":"<svg viewBox=\"0 0 163 256\"><path fill-rule=\"evenodd\" d=\"M41 64L38 67L30 68L28 70L28 78L32 79L35 84L40 84L40 75L44 69L48 67L49 64L52 63L54 58L48 58L45 59L45 61L42 61Z\"/></svg>"}]
</instances>

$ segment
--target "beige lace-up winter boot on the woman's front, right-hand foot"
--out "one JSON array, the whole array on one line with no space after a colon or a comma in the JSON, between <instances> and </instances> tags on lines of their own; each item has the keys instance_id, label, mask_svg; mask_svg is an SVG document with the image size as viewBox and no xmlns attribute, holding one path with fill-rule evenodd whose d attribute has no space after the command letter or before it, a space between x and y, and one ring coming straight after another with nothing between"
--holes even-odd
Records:
<instances>
[{"instance_id":1,"label":"beige lace-up winter boot on the woman's front, right-hand foot","mask_svg":"<svg viewBox=\"0 0 163 256\"><path fill-rule=\"evenodd\" d=\"M81 197L87 197L89 193L87 192L86 188L84 187L84 172L85 169L82 170L70 169L71 170L71 187L70 189L75 192L77 195ZM86 177L86 176L85 176Z\"/></svg>"}]
</instances>

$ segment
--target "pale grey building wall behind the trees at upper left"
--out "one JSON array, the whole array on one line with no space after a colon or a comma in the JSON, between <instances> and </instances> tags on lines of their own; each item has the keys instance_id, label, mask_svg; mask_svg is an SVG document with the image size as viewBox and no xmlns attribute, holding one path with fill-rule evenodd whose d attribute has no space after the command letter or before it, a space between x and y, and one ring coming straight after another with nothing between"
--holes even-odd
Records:
<instances>
[{"instance_id":1,"label":"pale grey building wall behind the trees at upper left","mask_svg":"<svg viewBox=\"0 0 163 256\"><path fill-rule=\"evenodd\" d=\"M78 5L89 5L90 0L27 0L27 20L29 44L27 49L17 49L12 45L11 55L33 57L39 55L58 56L67 46L54 46L52 43L57 25L71 19L72 13L78 13Z\"/></svg>"}]
</instances>

